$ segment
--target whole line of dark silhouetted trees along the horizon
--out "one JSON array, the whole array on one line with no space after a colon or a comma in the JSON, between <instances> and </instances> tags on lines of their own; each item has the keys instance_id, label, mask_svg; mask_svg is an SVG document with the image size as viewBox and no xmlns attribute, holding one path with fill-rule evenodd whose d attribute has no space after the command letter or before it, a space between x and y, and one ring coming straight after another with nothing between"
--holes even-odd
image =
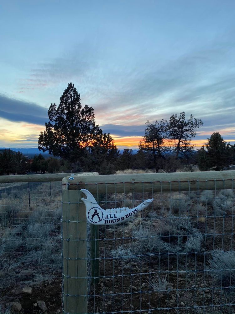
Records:
<instances>
[{"instance_id":1,"label":"whole line of dark silhouetted trees along the horizon","mask_svg":"<svg viewBox=\"0 0 235 314\"><path fill-rule=\"evenodd\" d=\"M82 107L80 100L74 84L69 83L59 105L50 105L49 122L39 135L38 148L60 159L45 160L41 154L35 155L31 171L112 174L128 168L148 168L174 172L182 164L198 164L201 171L206 171L235 164L235 145L226 143L218 132L195 150L191 140L203 122L193 115L186 119L185 112L171 115L169 121L147 121L137 154L132 149L124 149L120 154L110 133L104 133L96 124L94 109ZM25 173L25 164L22 153L10 156L6 151L0 156L0 174Z\"/></svg>"}]
</instances>

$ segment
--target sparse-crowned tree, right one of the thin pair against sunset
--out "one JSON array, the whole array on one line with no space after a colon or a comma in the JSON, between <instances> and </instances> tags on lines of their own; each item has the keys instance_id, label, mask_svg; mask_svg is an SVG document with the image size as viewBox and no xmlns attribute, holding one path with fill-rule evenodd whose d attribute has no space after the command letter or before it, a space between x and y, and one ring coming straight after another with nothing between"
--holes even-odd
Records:
<instances>
[{"instance_id":1,"label":"sparse-crowned tree, right one of the thin pair against sunset","mask_svg":"<svg viewBox=\"0 0 235 314\"><path fill-rule=\"evenodd\" d=\"M180 116L172 115L169 120L169 139L172 141L175 158L179 158L179 154L187 156L191 154L193 146L191 139L196 136L196 129L201 127L203 122L196 119L193 115L185 120L185 112L181 112Z\"/></svg>"}]
</instances>

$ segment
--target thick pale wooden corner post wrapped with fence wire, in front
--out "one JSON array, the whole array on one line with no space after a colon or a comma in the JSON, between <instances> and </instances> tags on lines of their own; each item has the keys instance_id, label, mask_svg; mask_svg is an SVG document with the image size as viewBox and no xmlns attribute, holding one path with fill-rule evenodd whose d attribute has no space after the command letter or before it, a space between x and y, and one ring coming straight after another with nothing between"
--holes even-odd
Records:
<instances>
[{"instance_id":1,"label":"thick pale wooden corner post wrapped with fence wire, in front","mask_svg":"<svg viewBox=\"0 0 235 314\"><path fill-rule=\"evenodd\" d=\"M87 313L87 226L81 194L62 193L63 309L69 314Z\"/></svg>"}]
</instances>

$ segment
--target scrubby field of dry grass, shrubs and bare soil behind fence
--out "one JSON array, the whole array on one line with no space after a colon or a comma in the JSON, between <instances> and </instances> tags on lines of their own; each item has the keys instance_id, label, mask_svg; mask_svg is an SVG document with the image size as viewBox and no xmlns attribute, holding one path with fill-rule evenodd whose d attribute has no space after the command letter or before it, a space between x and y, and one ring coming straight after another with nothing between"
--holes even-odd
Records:
<instances>
[{"instance_id":1,"label":"scrubby field of dry grass, shrubs and bare soil behind fence","mask_svg":"<svg viewBox=\"0 0 235 314\"><path fill-rule=\"evenodd\" d=\"M60 182L0 191L1 314L62 313ZM100 206L147 198L133 219L100 227L88 312L233 313L234 191L102 194Z\"/></svg>"}]
</instances>

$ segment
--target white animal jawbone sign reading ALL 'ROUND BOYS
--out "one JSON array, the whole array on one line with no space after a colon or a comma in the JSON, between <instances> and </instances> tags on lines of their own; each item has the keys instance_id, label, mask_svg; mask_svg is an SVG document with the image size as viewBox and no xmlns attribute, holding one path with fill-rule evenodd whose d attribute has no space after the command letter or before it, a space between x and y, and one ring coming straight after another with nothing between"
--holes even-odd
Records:
<instances>
[{"instance_id":1,"label":"white animal jawbone sign reading ALL 'ROUND BOYS","mask_svg":"<svg viewBox=\"0 0 235 314\"><path fill-rule=\"evenodd\" d=\"M134 208L122 207L104 210L89 191L81 189L81 192L86 195L86 198L81 198L86 206L86 219L93 225L116 225L143 210L154 200L153 198L147 199Z\"/></svg>"}]
</instances>

